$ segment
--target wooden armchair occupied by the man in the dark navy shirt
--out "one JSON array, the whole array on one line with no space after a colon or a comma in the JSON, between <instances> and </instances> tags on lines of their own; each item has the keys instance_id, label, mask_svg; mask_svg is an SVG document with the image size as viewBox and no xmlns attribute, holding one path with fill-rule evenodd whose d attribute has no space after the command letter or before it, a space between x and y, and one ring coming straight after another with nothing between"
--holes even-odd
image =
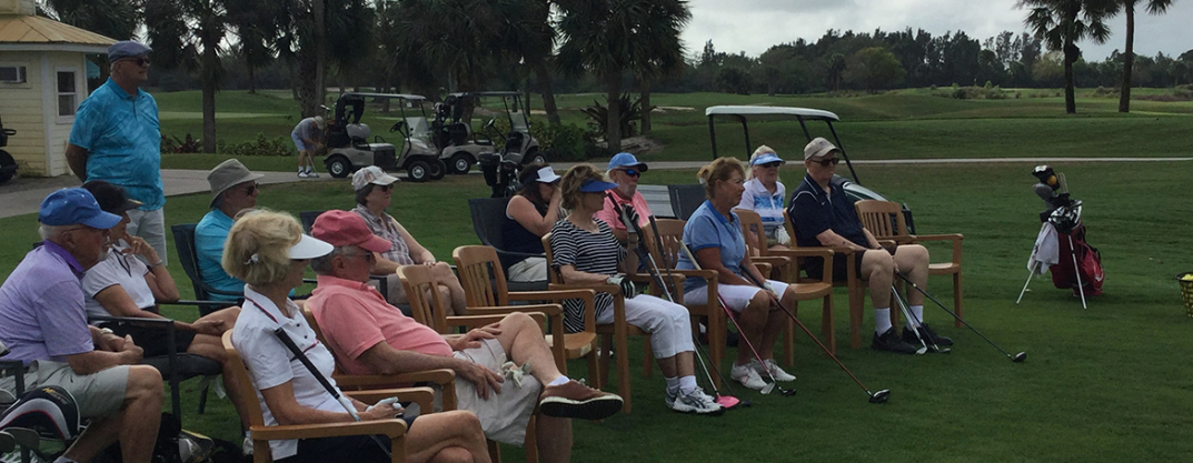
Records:
<instances>
[{"instance_id":1,"label":"wooden armchair occupied by the man in the dark navy shirt","mask_svg":"<svg viewBox=\"0 0 1193 463\"><path fill-rule=\"evenodd\" d=\"M792 270L796 276L796 282L798 283L815 283L826 282L832 283L834 287L846 287L847 294L849 296L849 340L853 349L861 348L861 311L865 308L866 301L866 284L863 283L861 279L858 277L858 267L854 262L853 250L845 246L814 246L814 248L801 248L796 243L796 226L791 221L791 217L787 212L783 212L783 225L787 229L787 234L791 236L791 249L783 250L767 250L767 254L777 256L790 256L795 262L795 269ZM824 252L828 251L828 252ZM833 280L833 257L835 255L845 255L846 258L846 277L845 281ZM801 276L799 265L806 257L820 257L824 261L824 275L820 280ZM830 309L828 311L830 312ZM836 334L833 331L833 315L826 312L821 318L821 342L829 348L834 353L836 352ZM891 311L895 313L896 311ZM896 325L897 326L897 325Z\"/></svg>"}]
</instances>

